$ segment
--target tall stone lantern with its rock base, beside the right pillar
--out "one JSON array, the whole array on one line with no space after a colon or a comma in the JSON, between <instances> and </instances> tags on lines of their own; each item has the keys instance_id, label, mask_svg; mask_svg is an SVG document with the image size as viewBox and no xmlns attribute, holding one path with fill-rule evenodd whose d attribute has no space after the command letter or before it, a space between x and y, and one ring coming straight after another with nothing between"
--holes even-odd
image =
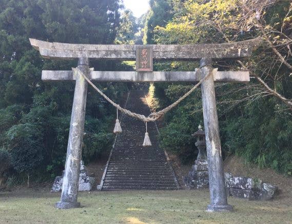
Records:
<instances>
[{"instance_id":1,"label":"tall stone lantern with its rock base, beside the right pillar","mask_svg":"<svg viewBox=\"0 0 292 224\"><path fill-rule=\"evenodd\" d=\"M198 131L194 132L192 136L197 137L197 142L194 143L194 145L199 149L199 153L197 160L194 161L192 169L189 171L188 175L184 177L183 181L188 189L207 188L209 186L209 175L205 131L203 131L203 127L199 125Z\"/></svg>"}]
</instances>

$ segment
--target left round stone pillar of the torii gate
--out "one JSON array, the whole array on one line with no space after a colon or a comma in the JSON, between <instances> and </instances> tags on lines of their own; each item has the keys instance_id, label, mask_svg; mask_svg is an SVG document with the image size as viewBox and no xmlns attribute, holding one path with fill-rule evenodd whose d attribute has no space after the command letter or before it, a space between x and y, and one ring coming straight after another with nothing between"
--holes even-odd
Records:
<instances>
[{"instance_id":1,"label":"left round stone pillar of the torii gate","mask_svg":"<svg viewBox=\"0 0 292 224\"><path fill-rule=\"evenodd\" d=\"M89 59L79 58L78 69L85 75L89 75ZM84 135L86 97L87 81L82 75L76 74L62 195L61 201L57 202L55 205L58 209L80 207L80 202L77 201L77 196Z\"/></svg>"}]
</instances>

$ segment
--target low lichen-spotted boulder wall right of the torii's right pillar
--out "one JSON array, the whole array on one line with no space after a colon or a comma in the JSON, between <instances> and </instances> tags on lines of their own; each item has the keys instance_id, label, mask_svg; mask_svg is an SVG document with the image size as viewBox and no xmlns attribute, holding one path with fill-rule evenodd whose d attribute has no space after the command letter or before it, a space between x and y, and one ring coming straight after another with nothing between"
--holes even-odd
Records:
<instances>
[{"instance_id":1,"label":"low lichen-spotted boulder wall right of the torii's right pillar","mask_svg":"<svg viewBox=\"0 0 292 224\"><path fill-rule=\"evenodd\" d=\"M227 194L249 200L269 200L278 193L278 187L262 183L257 178L232 176L225 173Z\"/></svg>"}]
</instances>

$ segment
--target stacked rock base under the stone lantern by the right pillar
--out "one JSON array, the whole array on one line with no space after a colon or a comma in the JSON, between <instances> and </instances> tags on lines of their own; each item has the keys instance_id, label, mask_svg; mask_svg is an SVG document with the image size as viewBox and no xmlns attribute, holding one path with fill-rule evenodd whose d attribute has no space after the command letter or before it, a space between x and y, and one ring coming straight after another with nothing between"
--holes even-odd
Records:
<instances>
[{"instance_id":1,"label":"stacked rock base under the stone lantern by the right pillar","mask_svg":"<svg viewBox=\"0 0 292 224\"><path fill-rule=\"evenodd\" d=\"M209 187L208 161L196 160L188 175L183 179L187 189L199 189Z\"/></svg>"}]
</instances>

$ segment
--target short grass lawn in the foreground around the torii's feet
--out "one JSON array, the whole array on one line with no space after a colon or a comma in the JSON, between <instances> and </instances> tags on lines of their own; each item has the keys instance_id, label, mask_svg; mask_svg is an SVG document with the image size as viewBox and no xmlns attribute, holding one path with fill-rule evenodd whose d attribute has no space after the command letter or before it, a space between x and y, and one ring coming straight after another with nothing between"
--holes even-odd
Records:
<instances>
[{"instance_id":1,"label":"short grass lawn in the foreground around the torii's feet","mask_svg":"<svg viewBox=\"0 0 292 224\"><path fill-rule=\"evenodd\" d=\"M281 195L280 195L281 196ZM82 208L54 208L60 193L0 193L0 223L292 223L291 198L229 197L231 213L206 212L208 190L81 192Z\"/></svg>"}]
</instances>

